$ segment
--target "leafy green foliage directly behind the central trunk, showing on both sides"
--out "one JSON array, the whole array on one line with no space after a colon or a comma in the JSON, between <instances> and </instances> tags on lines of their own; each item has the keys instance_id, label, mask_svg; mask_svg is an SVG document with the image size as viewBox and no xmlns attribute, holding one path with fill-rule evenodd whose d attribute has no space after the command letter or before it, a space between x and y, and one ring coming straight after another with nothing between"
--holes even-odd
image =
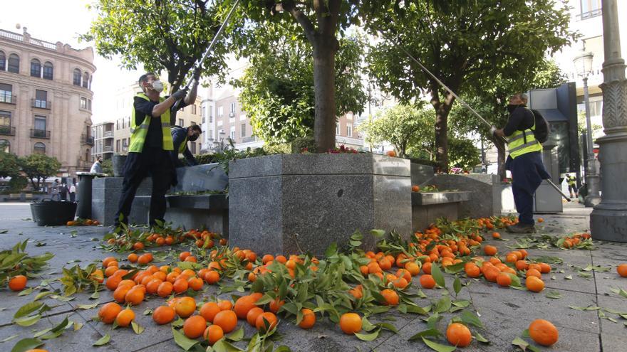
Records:
<instances>
[{"instance_id":1,"label":"leafy green foliage directly behind the central trunk, showing on both sides","mask_svg":"<svg viewBox=\"0 0 627 352\"><path fill-rule=\"evenodd\" d=\"M254 134L269 144L291 142L314 133L314 59L311 45L285 40L294 25L268 24L259 29L265 45L250 50L251 65L234 84L242 87L239 100L251 119ZM297 29L297 28L296 28ZM363 39L340 40L336 53L336 114L361 112L366 94L361 84ZM269 70L269 68L272 68Z\"/></svg>"}]
</instances>

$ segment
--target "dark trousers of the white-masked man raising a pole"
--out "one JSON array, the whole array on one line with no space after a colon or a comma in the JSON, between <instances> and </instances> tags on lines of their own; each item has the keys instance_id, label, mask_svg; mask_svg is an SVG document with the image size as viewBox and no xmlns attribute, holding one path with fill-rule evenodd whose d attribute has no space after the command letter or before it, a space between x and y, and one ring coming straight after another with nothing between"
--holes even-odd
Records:
<instances>
[{"instance_id":1,"label":"dark trousers of the white-masked man raising a pole","mask_svg":"<svg viewBox=\"0 0 627 352\"><path fill-rule=\"evenodd\" d=\"M156 225L155 219L163 221L166 209L165 193L172 183L170 154L160 148L144 146L141 153L128 153L123 172L124 181L118 202L118 213L115 213L115 224L119 225L120 214L123 214L122 222L128 224L128 214L133 205L135 191L148 175L152 177L149 222L150 225Z\"/></svg>"}]
</instances>

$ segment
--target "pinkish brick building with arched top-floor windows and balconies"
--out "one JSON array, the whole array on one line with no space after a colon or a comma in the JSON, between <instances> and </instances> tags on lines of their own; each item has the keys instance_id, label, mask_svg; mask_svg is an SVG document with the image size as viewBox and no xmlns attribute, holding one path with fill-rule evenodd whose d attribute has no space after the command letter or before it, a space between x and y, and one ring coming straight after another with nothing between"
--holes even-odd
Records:
<instances>
[{"instance_id":1,"label":"pinkish brick building with arched top-floor windows and balconies","mask_svg":"<svg viewBox=\"0 0 627 352\"><path fill-rule=\"evenodd\" d=\"M92 48L77 50L0 30L0 144L18 156L61 162L58 176L91 162Z\"/></svg>"}]
</instances>

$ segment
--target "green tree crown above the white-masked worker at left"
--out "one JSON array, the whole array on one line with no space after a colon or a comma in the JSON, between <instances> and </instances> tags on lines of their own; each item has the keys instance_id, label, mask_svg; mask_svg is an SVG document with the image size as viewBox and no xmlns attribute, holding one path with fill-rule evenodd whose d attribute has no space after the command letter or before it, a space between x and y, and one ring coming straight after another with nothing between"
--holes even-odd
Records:
<instances>
[{"instance_id":1,"label":"green tree crown above the white-masked worker at left","mask_svg":"<svg viewBox=\"0 0 627 352\"><path fill-rule=\"evenodd\" d=\"M209 46L223 18L219 1L97 0L98 16L81 38L94 41L98 54L120 55L124 68L142 65L147 71L167 71L170 92L185 84L195 61ZM227 26L225 33L232 30ZM203 65L204 75L224 74L228 53L219 41Z\"/></svg>"}]
</instances>

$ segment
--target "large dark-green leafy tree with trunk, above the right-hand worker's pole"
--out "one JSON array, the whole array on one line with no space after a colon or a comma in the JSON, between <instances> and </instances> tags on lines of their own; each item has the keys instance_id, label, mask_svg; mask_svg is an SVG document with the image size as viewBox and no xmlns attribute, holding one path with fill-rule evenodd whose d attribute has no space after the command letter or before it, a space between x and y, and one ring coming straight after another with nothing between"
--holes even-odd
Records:
<instances>
[{"instance_id":1,"label":"large dark-green leafy tree with trunk, above the right-hand worker's pole","mask_svg":"<svg viewBox=\"0 0 627 352\"><path fill-rule=\"evenodd\" d=\"M502 78L518 82L576 37L569 11L554 1L412 1L388 7L388 16L364 25L395 38L458 95L489 90ZM437 25L436 25L437 23ZM436 114L437 160L447 168L447 118L455 98L403 52L380 41L369 53L371 75L400 102L430 96ZM509 92L511 94L511 92Z\"/></svg>"}]
</instances>

